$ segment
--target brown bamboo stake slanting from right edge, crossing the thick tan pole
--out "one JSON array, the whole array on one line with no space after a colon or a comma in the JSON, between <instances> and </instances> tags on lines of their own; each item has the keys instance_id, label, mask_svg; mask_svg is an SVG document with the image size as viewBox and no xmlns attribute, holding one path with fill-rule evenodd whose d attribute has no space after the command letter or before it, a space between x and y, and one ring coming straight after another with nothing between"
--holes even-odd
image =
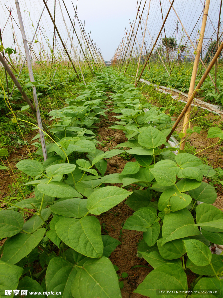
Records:
<instances>
[{"instance_id":1,"label":"brown bamboo stake slanting from right edge, crossing the thick tan pole","mask_svg":"<svg viewBox=\"0 0 223 298\"><path fill-rule=\"evenodd\" d=\"M183 115L186 113L186 111L188 110L189 106L191 105L192 101L194 100L194 97L197 95L198 90L200 89L200 87L202 86L202 84L204 83L206 77L208 76L209 72L211 71L212 67L214 66L216 60L218 59L219 55L221 54L223 49L223 41L220 44L216 54L214 55L213 59L211 60L210 64L208 65L208 67L205 70L205 73L203 74L202 78L200 79L199 83L197 84L197 86L194 89L194 92L191 94L191 96L188 98L187 103L185 105L185 107L183 108L182 112L180 113L179 117L177 118L176 122L174 123L171 132L168 134L167 136L167 141L169 140L169 138L172 136L172 133L175 131L175 129L177 128L180 120L183 118ZM161 146L160 149L164 148L165 145L163 144Z\"/></svg>"}]
</instances>

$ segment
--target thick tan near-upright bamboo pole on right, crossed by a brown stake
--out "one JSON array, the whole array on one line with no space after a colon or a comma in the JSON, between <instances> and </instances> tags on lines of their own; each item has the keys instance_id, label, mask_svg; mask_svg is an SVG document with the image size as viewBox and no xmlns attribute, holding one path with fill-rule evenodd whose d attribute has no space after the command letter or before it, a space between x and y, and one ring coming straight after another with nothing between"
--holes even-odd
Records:
<instances>
[{"instance_id":1,"label":"thick tan near-upright bamboo pole on right, crossed by a brown stake","mask_svg":"<svg viewBox=\"0 0 223 298\"><path fill-rule=\"evenodd\" d=\"M191 75L191 82L190 82L190 87L189 87L189 91L188 91L188 98L194 92L194 85L195 85L195 80L196 80L196 77L197 77L197 70L198 70L198 66L199 66L200 53L201 53L201 49L202 49L203 38L204 38L204 33L205 33L205 27L206 27L207 18L208 18L209 4L210 4L210 0L206 0L205 10L204 10L202 24L201 24L201 30L200 30L200 40L199 40L199 43L197 45L197 50L196 50L197 54L196 54L195 59L194 59L194 66L193 66L193 71L192 71L192 75ZM183 120L183 134L184 134L184 136L182 138L182 142L181 142L181 145L180 145L181 150L183 150L184 146L185 146L185 141L184 140L186 139L186 136L187 136L187 128L189 126L190 112L191 112L191 104L189 105L189 107L188 107L188 109L185 113L184 120Z\"/></svg>"}]
</instances>

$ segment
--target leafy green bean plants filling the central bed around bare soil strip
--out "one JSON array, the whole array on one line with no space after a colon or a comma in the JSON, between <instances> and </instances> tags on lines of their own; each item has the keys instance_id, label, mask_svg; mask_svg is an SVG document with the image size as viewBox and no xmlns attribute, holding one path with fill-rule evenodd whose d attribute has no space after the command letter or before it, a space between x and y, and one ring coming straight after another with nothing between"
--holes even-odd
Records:
<instances>
[{"instance_id":1,"label":"leafy green bean plants filling the central bed around bare soil strip","mask_svg":"<svg viewBox=\"0 0 223 298\"><path fill-rule=\"evenodd\" d=\"M197 275L193 290L218 289L209 297L222 297L223 257L212 254L209 246L223 244L223 213L212 205L217 194L204 179L216 171L196 153L166 142L174 123L167 108L152 106L112 70L98 73L66 103L49 112L48 159L16 164L30 176L26 185L33 187L35 197L16 205L7 202L9 207L0 212L0 237L6 238L0 250L0 295L5 289L28 288L62 292L48 297L121 298L123 285L109 260L121 242L101 235L104 227L97 215L127 198L134 213L123 230L143 232L137 256L154 268L134 292L155 298L157 289L180 290L185 294L168 297L203 297L187 295L190 269ZM104 152L97 148L95 129L111 111L117 121L110 129L123 131L128 141ZM223 132L212 127L208 138L222 141ZM165 148L159 149L162 144ZM107 160L121 153L136 161L127 162L122 173L105 175ZM125 190L128 185L132 191ZM25 211L32 217L24 223ZM37 258L42 270L34 274Z\"/></svg>"}]
</instances>

